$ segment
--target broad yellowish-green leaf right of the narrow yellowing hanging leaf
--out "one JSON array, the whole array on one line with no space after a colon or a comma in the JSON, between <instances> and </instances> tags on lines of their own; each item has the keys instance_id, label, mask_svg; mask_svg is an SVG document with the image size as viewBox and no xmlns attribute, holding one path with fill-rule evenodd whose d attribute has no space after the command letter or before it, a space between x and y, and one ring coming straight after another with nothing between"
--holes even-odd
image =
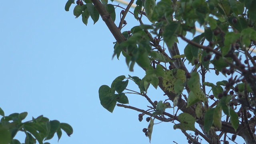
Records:
<instances>
[{"instance_id":1,"label":"broad yellowish-green leaf right of the narrow yellowing hanging leaf","mask_svg":"<svg viewBox=\"0 0 256 144\"><path fill-rule=\"evenodd\" d=\"M180 124L174 124L173 128L174 129L181 129L181 130L192 130L195 131L195 122L196 122L196 118L194 118L193 116L191 116L188 113L181 113L178 116L178 119L180 120Z\"/></svg>"}]
</instances>

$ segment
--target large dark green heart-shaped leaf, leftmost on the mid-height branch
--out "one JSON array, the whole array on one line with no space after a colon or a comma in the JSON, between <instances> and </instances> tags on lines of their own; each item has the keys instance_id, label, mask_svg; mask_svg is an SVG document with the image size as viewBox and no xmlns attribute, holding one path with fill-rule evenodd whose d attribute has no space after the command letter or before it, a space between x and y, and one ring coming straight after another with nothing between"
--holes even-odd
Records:
<instances>
[{"instance_id":1,"label":"large dark green heart-shaped leaf, leftmost on the mid-height branch","mask_svg":"<svg viewBox=\"0 0 256 144\"><path fill-rule=\"evenodd\" d=\"M111 88L109 86L103 85L99 88L100 104L106 108L109 112L113 112L116 106L116 100L111 93Z\"/></svg>"}]
</instances>

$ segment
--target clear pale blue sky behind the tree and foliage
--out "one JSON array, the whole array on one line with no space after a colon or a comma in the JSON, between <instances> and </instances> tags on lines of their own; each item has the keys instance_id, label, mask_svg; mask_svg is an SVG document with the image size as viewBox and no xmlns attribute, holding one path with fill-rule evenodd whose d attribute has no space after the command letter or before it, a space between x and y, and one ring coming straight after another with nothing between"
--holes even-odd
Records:
<instances>
[{"instance_id":1,"label":"clear pale blue sky behind the tree and foliage","mask_svg":"<svg viewBox=\"0 0 256 144\"><path fill-rule=\"evenodd\" d=\"M139 122L138 112L120 107L110 113L98 98L98 88L111 85L117 76L142 78L145 72L138 66L129 72L122 57L112 60L115 40L101 18L95 25L89 19L85 26L73 15L75 4L69 12L64 10L65 4L66 0L1 2L0 107L6 115L28 112L26 120L44 114L70 124L74 134L63 133L59 144L148 144L142 132L148 127L146 116ZM118 13L116 22L119 20ZM124 30L139 25L132 15L126 21ZM133 84L128 88L138 90ZM166 98L152 86L148 94L152 100ZM146 99L128 98L129 105L147 108ZM17 138L24 142L22 134ZM55 136L49 142L57 141ZM172 141L187 142L171 123L154 126L152 144Z\"/></svg>"}]
</instances>

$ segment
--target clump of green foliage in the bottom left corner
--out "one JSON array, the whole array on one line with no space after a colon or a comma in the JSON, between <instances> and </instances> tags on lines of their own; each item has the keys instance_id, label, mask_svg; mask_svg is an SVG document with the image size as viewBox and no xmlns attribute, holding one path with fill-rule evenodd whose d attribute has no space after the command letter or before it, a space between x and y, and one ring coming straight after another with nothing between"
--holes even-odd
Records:
<instances>
[{"instance_id":1,"label":"clump of green foliage in the bottom left corner","mask_svg":"<svg viewBox=\"0 0 256 144\"><path fill-rule=\"evenodd\" d=\"M15 139L16 134L24 132L26 138L22 144L50 144L44 142L50 140L57 134L58 140L62 136L62 130L66 132L68 136L73 133L73 128L66 123L60 123L58 120L49 120L43 115L27 122L22 122L28 112L13 113L9 116L5 116L4 111L0 108L0 115L2 116L0 121L0 144L21 144L19 140Z\"/></svg>"}]
</instances>

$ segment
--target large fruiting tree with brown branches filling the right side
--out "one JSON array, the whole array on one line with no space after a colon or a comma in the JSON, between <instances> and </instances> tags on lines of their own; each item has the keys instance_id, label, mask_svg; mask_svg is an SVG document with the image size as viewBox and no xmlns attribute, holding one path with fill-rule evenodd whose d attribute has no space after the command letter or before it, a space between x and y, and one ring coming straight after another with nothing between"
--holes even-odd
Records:
<instances>
[{"instance_id":1,"label":"large fruiting tree with brown branches filling the right side","mask_svg":"<svg viewBox=\"0 0 256 144\"><path fill-rule=\"evenodd\" d=\"M111 86L101 86L102 106L110 112L115 106L136 110L140 121L148 115L149 125L143 132L149 140L158 120L175 123L174 129L180 129L188 143L199 144L203 139L228 144L238 135L246 144L255 144L256 56L251 50L256 46L256 1L137 0L131 12L133 2L122 8L108 0L77 0L74 7L74 16L81 15L86 25L89 17L95 24L101 16L116 39L113 57L122 54L130 71L138 64L146 72L144 78L118 76ZM68 0L65 10L73 3ZM118 25L116 8L123 9ZM140 25L122 32L128 12ZM196 25L204 28L202 34L196 34ZM178 42L188 43L184 54ZM209 78L210 72L215 75ZM222 81L212 83L211 78L221 76L225 76ZM139 91L127 89L129 81ZM152 100L147 93L150 85L160 88L166 98ZM126 105L126 94L131 93L145 97L149 109ZM170 108L176 113L165 111Z\"/></svg>"}]
</instances>

